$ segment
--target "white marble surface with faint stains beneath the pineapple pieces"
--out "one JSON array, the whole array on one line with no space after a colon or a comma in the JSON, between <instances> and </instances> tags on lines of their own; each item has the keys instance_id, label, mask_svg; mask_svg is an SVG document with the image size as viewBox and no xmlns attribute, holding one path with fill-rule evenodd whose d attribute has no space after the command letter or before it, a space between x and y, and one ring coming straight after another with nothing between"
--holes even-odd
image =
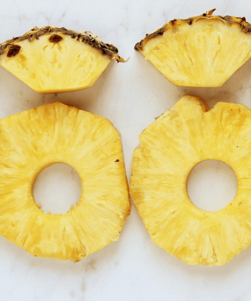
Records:
<instances>
[{"instance_id":1,"label":"white marble surface with faint stains beneath the pineapple pieces","mask_svg":"<svg viewBox=\"0 0 251 301\"><path fill-rule=\"evenodd\" d=\"M146 33L155 31L169 20L200 15L212 8L216 8L218 15L245 16L251 22L249 0L0 1L1 42L34 26L51 25L92 31L105 43L118 47L119 55L124 59L130 57L126 64L109 64L91 88L57 95L39 95L1 67L1 117L54 101L71 103L105 116L121 133L129 180L132 152L139 145L139 133L183 94L201 97L210 108L218 101L229 101L244 103L251 109L251 60L222 87L178 87L169 83L133 49ZM223 172L224 168L218 169ZM77 176L71 176L71 171L62 166L51 172L63 174L62 170L68 172L64 174L66 177L71 177L73 188L68 188L75 191L77 198L81 189ZM204 176L215 175L215 169L210 172L204 168ZM234 177L234 173L226 175L230 183L224 193L226 198L235 193L232 191ZM46 184L45 179L46 174L41 176L41 185ZM64 183L64 176L58 181ZM193 187L198 186L198 177L194 176L193 181ZM223 185L219 184L214 193L221 192ZM45 188L36 189L38 195L39 191L45 191ZM56 196L59 191L52 193ZM213 190L207 191L213 197ZM186 265L150 241L133 203L119 240L78 263L31 257L4 237L0 237L0 242L0 299L3 301L246 301L251 298L250 247L221 267Z\"/></svg>"}]
</instances>

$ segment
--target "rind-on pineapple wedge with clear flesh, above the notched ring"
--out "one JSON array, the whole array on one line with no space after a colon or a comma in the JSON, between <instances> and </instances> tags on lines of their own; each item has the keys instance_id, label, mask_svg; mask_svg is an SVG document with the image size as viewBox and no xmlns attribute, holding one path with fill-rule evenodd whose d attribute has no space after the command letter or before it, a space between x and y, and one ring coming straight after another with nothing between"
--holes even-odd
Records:
<instances>
[{"instance_id":1,"label":"rind-on pineapple wedge with clear flesh, above the notched ring","mask_svg":"<svg viewBox=\"0 0 251 301\"><path fill-rule=\"evenodd\" d=\"M174 19L134 47L171 83L220 87L251 56L251 25L245 17L212 16L215 9Z\"/></svg>"}]
</instances>

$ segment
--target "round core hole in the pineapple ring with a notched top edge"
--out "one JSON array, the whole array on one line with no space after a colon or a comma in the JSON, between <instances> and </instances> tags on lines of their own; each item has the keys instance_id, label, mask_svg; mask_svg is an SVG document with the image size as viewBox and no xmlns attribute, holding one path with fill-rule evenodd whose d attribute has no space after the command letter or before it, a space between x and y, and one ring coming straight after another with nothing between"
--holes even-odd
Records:
<instances>
[{"instance_id":1,"label":"round core hole in the pineapple ring with a notched top edge","mask_svg":"<svg viewBox=\"0 0 251 301\"><path fill-rule=\"evenodd\" d=\"M205 211L218 211L233 201L238 181L233 169L218 160L197 164L187 180L187 193L192 203Z\"/></svg>"}]
</instances>

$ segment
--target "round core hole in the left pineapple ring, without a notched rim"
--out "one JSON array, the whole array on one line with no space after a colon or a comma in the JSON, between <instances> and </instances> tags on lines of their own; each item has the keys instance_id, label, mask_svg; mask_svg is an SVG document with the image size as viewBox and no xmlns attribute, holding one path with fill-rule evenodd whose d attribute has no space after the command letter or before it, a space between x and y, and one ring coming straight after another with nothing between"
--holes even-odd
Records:
<instances>
[{"instance_id":1,"label":"round core hole in the left pineapple ring, without a notched rim","mask_svg":"<svg viewBox=\"0 0 251 301\"><path fill-rule=\"evenodd\" d=\"M81 194L81 179L70 165L55 163L37 176L33 185L36 204L44 213L65 214L76 206ZM73 206L72 206L73 205Z\"/></svg>"}]
</instances>

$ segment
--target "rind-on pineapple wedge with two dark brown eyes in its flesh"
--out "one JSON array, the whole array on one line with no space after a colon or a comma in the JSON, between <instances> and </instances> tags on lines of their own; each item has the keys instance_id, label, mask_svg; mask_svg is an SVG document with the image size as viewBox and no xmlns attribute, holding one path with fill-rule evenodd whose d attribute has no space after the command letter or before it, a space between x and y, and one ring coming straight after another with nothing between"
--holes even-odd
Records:
<instances>
[{"instance_id":1,"label":"rind-on pineapple wedge with two dark brown eyes in its flesh","mask_svg":"<svg viewBox=\"0 0 251 301\"><path fill-rule=\"evenodd\" d=\"M37 93L59 93L91 87L112 60L125 62L117 53L90 31L34 27L0 44L0 66Z\"/></svg>"}]
</instances>

